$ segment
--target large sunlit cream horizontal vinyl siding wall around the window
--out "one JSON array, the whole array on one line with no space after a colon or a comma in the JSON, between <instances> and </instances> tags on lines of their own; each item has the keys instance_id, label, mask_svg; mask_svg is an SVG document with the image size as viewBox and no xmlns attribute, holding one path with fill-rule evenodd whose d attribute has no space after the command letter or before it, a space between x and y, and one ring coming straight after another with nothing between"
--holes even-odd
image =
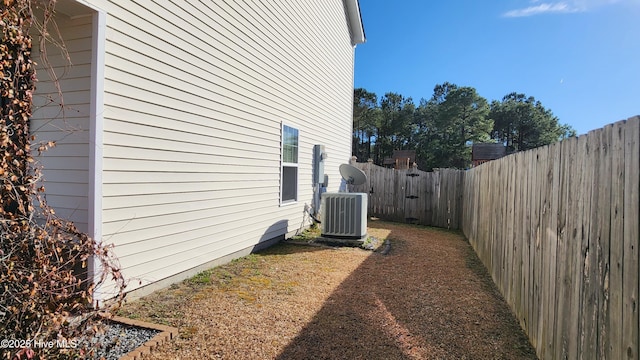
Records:
<instances>
[{"instance_id":1,"label":"large sunlit cream horizontal vinyl siding wall around the window","mask_svg":"<svg viewBox=\"0 0 640 360\"><path fill-rule=\"evenodd\" d=\"M342 1L103 5L102 232L128 277L144 285L297 229L314 144L338 189L353 96ZM287 206L283 122L300 131Z\"/></svg>"}]
</instances>

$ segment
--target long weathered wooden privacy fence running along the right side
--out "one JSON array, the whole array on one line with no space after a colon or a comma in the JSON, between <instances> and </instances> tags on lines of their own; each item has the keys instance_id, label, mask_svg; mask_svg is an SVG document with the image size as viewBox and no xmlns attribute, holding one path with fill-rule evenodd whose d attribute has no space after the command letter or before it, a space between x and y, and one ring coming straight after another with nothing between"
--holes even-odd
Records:
<instances>
[{"instance_id":1,"label":"long weathered wooden privacy fence running along the right side","mask_svg":"<svg viewBox=\"0 0 640 360\"><path fill-rule=\"evenodd\" d=\"M638 359L640 117L469 170L462 228L541 359Z\"/></svg>"}]
</instances>

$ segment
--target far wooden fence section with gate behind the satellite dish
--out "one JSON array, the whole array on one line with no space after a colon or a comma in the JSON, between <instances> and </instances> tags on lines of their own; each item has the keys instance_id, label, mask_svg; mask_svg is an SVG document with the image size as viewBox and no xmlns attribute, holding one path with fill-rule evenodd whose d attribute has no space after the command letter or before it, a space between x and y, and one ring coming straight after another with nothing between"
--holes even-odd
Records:
<instances>
[{"instance_id":1,"label":"far wooden fence section with gate behind the satellite dish","mask_svg":"<svg viewBox=\"0 0 640 360\"><path fill-rule=\"evenodd\" d=\"M413 167L394 170L357 163L367 182L351 191L369 193L369 215L448 229L459 229L464 171L424 172Z\"/></svg>"}]
</instances>

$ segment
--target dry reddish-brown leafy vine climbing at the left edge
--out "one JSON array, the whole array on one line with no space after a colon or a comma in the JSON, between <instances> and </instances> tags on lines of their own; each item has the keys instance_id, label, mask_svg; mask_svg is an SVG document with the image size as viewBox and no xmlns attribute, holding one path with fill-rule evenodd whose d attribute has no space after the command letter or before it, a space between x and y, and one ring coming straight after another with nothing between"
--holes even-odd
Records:
<instances>
[{"instance_id":1,"label":"dry reddish-brown leafy vine climbing at the left edge","mask_svg":"<svg viewBox=\"0 0 640 360\"><path fill-rule=\"evenodd\" d=\"M56 216L39 182L29 130L36 83L30 31L55 45L54 6L55 0L0 5L0 339L18 344L0 349L2 359L83 356L80 347L60 344L77 345L78 337L96 330L97 286L115 285L116 306L125 286L111 249ZM43 17L37 19L34 9ZM51 145L41 144L37 151ZM89 270L91 261L99 274ZM54 346L42 346L51 341Z\"/></svg>"}]
</instances>

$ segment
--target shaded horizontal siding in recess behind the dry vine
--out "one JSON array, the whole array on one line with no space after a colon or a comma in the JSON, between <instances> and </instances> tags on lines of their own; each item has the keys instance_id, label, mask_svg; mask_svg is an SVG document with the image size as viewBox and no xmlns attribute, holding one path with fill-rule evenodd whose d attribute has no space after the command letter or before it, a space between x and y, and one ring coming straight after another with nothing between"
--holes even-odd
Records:
<instances>
[{"instance_id":1,"label":"shaded horizontal siding in recess behind the dry vine","mask_svg":"<svg viewBox=\"0 0 640 360\"><path fill-rule=\"evenodd\" d=\"M81 231L88 230L91 21L90 16L70 19L64 15L56 20L71 64L54 45L48 45L47 58L59 78L62 98L34 41L38 82L31 131L36 143L56 142L36 159L43 166L47 203Z\"/></svg>"}]
</instances>

